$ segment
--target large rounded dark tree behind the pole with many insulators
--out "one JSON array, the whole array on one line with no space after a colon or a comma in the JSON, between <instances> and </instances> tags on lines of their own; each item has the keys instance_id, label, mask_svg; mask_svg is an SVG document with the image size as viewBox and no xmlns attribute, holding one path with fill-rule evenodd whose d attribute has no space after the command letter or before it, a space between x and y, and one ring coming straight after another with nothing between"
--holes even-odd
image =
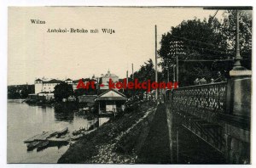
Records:
<instances>
[{"instance_id":1,"label":"large rounded dark tree behind the pole with many insulators","mask_svg":"<svg viewBox=\"0 0 256 168\"><path fill-rule=\"evenodd\" d=\"M222 36L220 22L209 17L208 20L183 20L180 25L172 27L171 31L162 35L159 50L165 70L176 65L179 60L179 85L191 85L196 77L205 76L205 72L212 71L212 59L229 59L227 37ZM200 61L184 62L184 60L209 60L206 64ZM209 64L210 63L210 64ZM218 67L212 71L217 74ZM173 70L170 70L171 72ZM166 75L165 75L166 76ZM211 77L210 76L210 77Z\"/></svg>"}]
</instances>

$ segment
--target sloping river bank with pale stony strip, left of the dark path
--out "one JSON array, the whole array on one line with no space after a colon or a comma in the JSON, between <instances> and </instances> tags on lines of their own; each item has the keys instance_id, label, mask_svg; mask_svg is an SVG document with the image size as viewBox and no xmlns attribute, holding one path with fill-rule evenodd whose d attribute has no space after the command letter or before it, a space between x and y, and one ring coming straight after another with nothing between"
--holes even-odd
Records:
<instances>
[{"instance_id":1,"label":"sloping river bank with pale stony strip, left of the dark path","mask_svg":"<svg viewBox=\"0 0 256 168\"><path fill-rule=\"evenodd\" d=\"M58 163L136 163L154 112L148 102L127 109L71 145Z\"/></svg>"}]
</instances>

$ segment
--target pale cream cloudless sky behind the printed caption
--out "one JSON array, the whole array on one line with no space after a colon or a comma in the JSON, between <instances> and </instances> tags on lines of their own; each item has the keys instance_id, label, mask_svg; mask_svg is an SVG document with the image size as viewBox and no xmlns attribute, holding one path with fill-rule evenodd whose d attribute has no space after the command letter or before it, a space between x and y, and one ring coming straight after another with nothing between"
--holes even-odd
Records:
<instances>
[{"instance_id":1,"label":"pale cream cloudless sky behind the printed caption","mask_svg":"<svg viewBox=\"0 0 256 168\"><path fill-rule=\"evenodd\" d=\"M101 76L108 69L124 78L154 60L154 25L161 35L195 17L203 8L9 7L8 85L33 84L36 78L73 80ZM221 19L223 11L216 17ZM32 24L44 20L45 24ZM98 29L99 33L48 33L48 29ZM104 34L102 29L115 33Z\"/></svg>"}]
</instances>

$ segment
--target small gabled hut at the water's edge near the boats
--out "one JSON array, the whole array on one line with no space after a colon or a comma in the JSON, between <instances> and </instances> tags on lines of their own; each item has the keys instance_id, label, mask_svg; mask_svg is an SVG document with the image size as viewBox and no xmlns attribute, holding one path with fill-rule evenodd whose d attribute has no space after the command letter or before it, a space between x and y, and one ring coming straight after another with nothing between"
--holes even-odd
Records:
<instances>
[{"instance_id":1,"label":"small gabled hut at the water's edge near the boats","mask_svg":"<svg viewBox=\"0 0 256 168\"><path fill-rule=\"evenodd\" d=\"M116 90L108 90L103 92L96 98L98 105L99 115L102 114L115 114L119 111L125 110L125 101L127 98L121 92Z\"/></svg>"}]
</instances>

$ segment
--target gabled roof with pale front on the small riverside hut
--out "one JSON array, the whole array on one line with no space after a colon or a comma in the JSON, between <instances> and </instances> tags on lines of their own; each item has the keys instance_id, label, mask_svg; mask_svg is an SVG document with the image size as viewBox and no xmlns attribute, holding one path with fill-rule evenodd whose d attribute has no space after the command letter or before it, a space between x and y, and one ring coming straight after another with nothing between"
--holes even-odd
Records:
<instances>
[{"instance_id":1,"label":"gabled roof with pale front on the small riverside hut","mask_svg":"<svg viewBox=\"0 0 256 168\"><path fill-rule=\"evenodd\" d=\"M107 92L103 92L96 98L96 101L100 100L126 100L125 94L118 92L116 90L108 90Z\"/></svg>"}]
</instances>

